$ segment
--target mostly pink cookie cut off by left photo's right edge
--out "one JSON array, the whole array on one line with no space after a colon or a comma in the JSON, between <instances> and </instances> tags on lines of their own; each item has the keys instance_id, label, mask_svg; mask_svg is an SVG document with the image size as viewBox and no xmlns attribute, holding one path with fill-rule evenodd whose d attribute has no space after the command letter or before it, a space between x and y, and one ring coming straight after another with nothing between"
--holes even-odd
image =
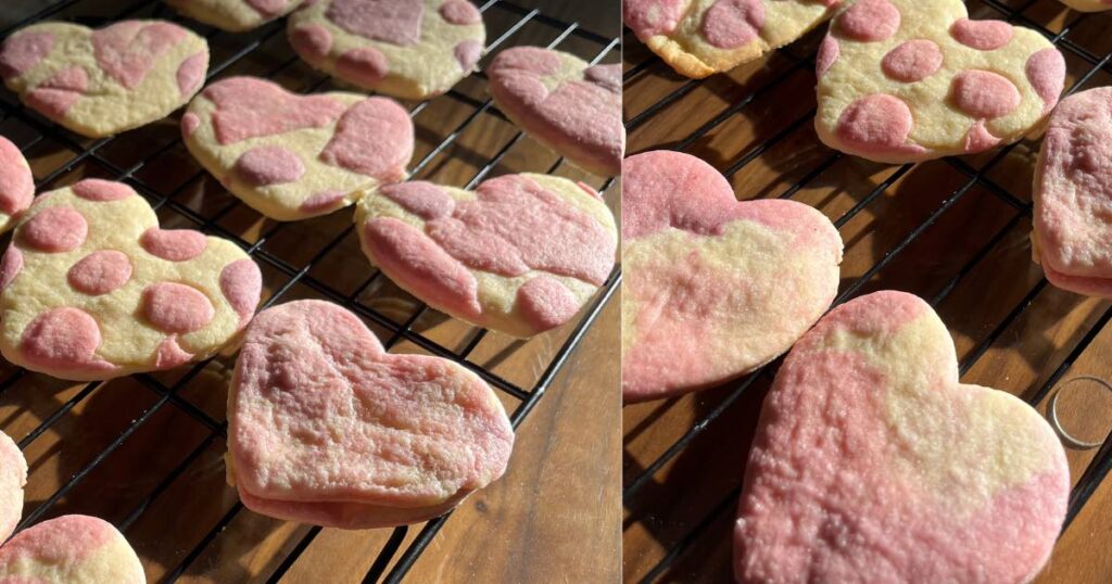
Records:
<instances>
[{"instance_id":1,"label":"mostly pink cookie cut off by left photo's right edge","mask_svg":"<svg viewBox=\"0 0 1112 584\"><path fill-rule=\"evenodd\" d=\"M519 128L586 170L622 171L620 65L516 47L499 52L486 73L498 108Z\"/></svg>"}]
</instances>

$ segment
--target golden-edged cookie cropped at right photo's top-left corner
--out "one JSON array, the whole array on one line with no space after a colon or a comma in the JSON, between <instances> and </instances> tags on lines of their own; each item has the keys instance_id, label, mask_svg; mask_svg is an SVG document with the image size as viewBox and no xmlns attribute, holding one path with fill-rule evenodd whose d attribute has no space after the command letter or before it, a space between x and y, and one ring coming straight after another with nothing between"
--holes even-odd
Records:
<instances>
[{"instance_id":1,"label":"golden-edged cookie cropped at right photo's top-left corner","mask_svg":"<svg viewBox=\"0 0 1112 584\"><path fill-rule=\"evenodd\" d=\"M681 75L702 79L788 44L841 0L623 0L626 26Z\"/></svg>"}]
</instances>

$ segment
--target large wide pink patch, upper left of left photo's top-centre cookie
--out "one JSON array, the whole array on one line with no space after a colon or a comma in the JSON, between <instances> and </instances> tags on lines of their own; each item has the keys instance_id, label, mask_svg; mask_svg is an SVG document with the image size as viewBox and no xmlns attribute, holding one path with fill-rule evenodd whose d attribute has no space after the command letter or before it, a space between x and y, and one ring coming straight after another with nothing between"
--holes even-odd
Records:
<instances>
[{"instance_id":1,"label":"large wide pink patch, upper left of left photo's top-centre cookie","mask_svg":"<svg viewBox=\"0 0 1112 584\"><path fill-rule=\"evenodd\" d=\"M298 96L271 81L232 77L202 93L216 103L212 126L221 145L336 121L346 106L327 96Z\"/></svg>"}]
</instances>

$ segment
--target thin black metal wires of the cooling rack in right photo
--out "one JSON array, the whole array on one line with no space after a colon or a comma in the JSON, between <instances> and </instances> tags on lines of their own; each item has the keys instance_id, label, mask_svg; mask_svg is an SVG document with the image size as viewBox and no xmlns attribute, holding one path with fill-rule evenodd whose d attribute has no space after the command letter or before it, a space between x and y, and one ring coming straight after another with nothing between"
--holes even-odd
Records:
<instances>
[{"instance_id":1,"label":"thin black metal wires of the cooling rack in right photo","mask_svg":"<svg viewBox=\"0 0 1112 584\"><path fill-rule=\"evenodd\" d=\"M1024 12L1034 6L1037 0L1025 0L1025 1L1014 1L1006 2L1001 0L981 0L981 3L987 6L997 16L994 17L982 17L982 18L997 18L1007 20L1015 24L1033 28L1041 32L1043 36L1049 38L1060 50L1065 52L1068 56L1075 57L1082 62L1086 63L1089 69L1081 75L1075 82L1066 88L1066 93L1072 93L1078 91L1080 88L1084 87L1093 76L1098 72L1112 73L1112 51L1108 55L1099 56L1093 55L1090 50L1082 47L1080 43L1074 42L1069 38L1072 30L1076 29L1078 26L1085 19L1101 18L1099 14L1085 14L1079 13L1062 28L1060 32L1052 32L1045 27L1035 22L1034 20L1024 16ZM1017 4L1017 6L1009 6ZM626 39L626 47L636 43L636 37L633 32L626 29L624 31L624 38ZM628 49L627 49L628 50ZM738 115L738 112L745 110L755 100L759 99L762 96L768 95L778 86L782 86L792 76L792 73L797 72L802 69L810 68L814 69L815 56L806 55L800 56L793 52L793 47L788 46L777 50L777 53L788 60L788 65L778 71L771 80L766 83L754 88L752 91L746 93L742 99L733 102L722 112L714 116L711 120L698 127L696 130L687 136L671 138L664 148L674 150L686 150L689 149L699 138L706 136L715 128L723 125L725 121L731 119L733 116ZM627 87L639 76L646 72L652 67L666 67L659 62L659 59L655 57L647 58L641 62L632 63L626 68L623 76L623 80ZM682 98L694 91L704 82L701 80L687 80L679 85L677 88L672 90L669 93L659 98L643 111L638 112L636 116L629 118L626 121L627 132L633 135L633 132L654 120L663 111L667 110L673 105L677 103ZM788 122L777 132L772 135L770 138L764 139L756 146L752 147L747 151L744 151L736 157L736 160L731 161L731 164L722 168L723 175L727 178L732 177L738 170L744 168L746 165L753 162L763 154L767 152L770 149L775 147L777 143L784 142L793 132L802 128L804 125L810 123L815 116L816 110L812 108L810 111L803 113L801 117L796 118L794 121ZM927 301L937 307L947 295L954 290L957 284L965 278L979 263L985 260L989 254L997 247L1005 236L1023 219L1030 219L1032 217L1032 204L1022 200L1020 197L1011 192L1007 188L1001 186L996 180L989 176L990 170L996 167L1014 148L1016 148L1022 142L1015 142L1006 146L999 151L996 151L986 162L981 165L979 168L974 168L961 158L952 157L943 159L945 164L951 166L953 169L957 170L962 176L965 177L964 182L957 189L953 190L947 197L945 197L936 209L934 209L924 220L919 222L910 232L907 232L895 246L887 249L881 258L872 265L864 274L851 281L847 286L838 293L834 305L838 305L854 297L862 290L862 288L876 276L885 266L892 264L892 261L897 258L905 249L907 249L916 239L919 239L932 225L939 221L939 219L946 214L947 210L952 209L974 186L979 186L984 190L992 194L992 196L999 198L1005 205L1014 209L1014 215L996 231L989 241L981 247L976 253L970 257L970 259L956 271L953 278L946 281L941 289L934 294L932 297L927 298ZM635 154L631 150L631 154ZM781 191L777 196L780 198L792 198L802 189L804 189L808 184L814 181L817 177L823 175L827 169L835 165L840 159L844 158L845 155L831 151L822 161L820 161L812 169L807 170L801 178L794 181L791 186ZM856 217L862 210L870 206L874 200L877 199L882 194L884 194L890 187L892 187L901 177L907 175L907 172L915 165L909 164L894 168L890 174L867 195L862 197L852 208L845 211L842 216L833 220L834 225L840 229L846 225L851 219ZM975 347L967 354L967 356L959 364L959 370L962 375L970 370L970 368L977 363L977 360L989 350L989 348L996 342L1001 335L1007 329L1009 325L1016 321L1017 318L1029 308L1035 300L1035 298L1048 287L1048 281L1045 277L1040 279L1024 296L1023 298L1011 308L1006 317L1000 321L989 335L983 338ZM1083 335L1080 343L1076 344L1070 352L1069 355L1054 368L1053 373L1045 379L1045 383L1041 384L1033 392L1023 396L1030 404L1035 405L1043 400L1044 397L1055 387L1058 382L1071 367L1071 365L1078 359L1078 357L1085 350L1086 347L1093 342L1098 334L1112 321L1112 307L1104 309L1103 313L1095 319L1092 327ZM729 384L726 388L725 396L713 404L713 407L705 414L702 414L692 420L691 427L683 433L678 439L671 442L671 444L651 463L638 468L637 473L633 476L626 475L624 478L625 486L623 488L623 503L627 509L637 507L637 497L643 493L645 487L654 481L654 476L662 472L669 462L674 461L677 455L684 452L692 443L708 428L714 426L715 420L723 417L733 406L735 406L738 400L748 393L754 390L754 384L764 379L770 382L773 377L773 372L778 364L778 359L772 364L765 365L762 368L746 375L733 384ZM626 428L628 432L629 428ZM1112 471L1112 435L1109 435L1104 439L1103 444L1094 455L1092 462L1089 464L1083 475L1078 481L1074 486L1071 497L1069 511L1065 519L1065 525L1063 526L1062 533L1065 532L1066 527L1073 522L1078 516L1079 512L1085 505L1085 503L1093 495L1093 492L1105 478L1109 472ZM627 471L628 472L628 471ZM736 505L737 498L741 494L741 486L735 486L729 492L717 499L713 506L708 506L702 518L691 523L689 528L686 532L682 532L683 535L671 543L664 544L662 557L652 566L652 568L641 578L641 582L654 582L659 580L668 570L672 567L677 560L687 551L692 544L699 538L701 535L705 534L708 527L714 524L716 519L722 519L722 517L731 513ZM637 513L637 512L635 512Z\"/></svg>"}]
</instances>

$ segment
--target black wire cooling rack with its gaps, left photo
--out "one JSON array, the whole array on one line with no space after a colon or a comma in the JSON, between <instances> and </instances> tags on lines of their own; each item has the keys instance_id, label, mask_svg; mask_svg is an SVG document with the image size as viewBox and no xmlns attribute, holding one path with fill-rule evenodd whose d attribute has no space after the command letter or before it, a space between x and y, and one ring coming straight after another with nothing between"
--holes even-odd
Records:
<instances>
[{"instance_id":1,"label":"black wire cooling rack with its gaps, left photo","mask_svg":"<svg viewBox=\"0 0 1112 584\"><path fill-rule=\"evenodd\" d=\"M487 0L480 6L480 10L488 26L488 53L517 43L547 43L598 62L604 58L615 57L619 50L617 38L606 38L585 30L577 23L564 22L514 2ZM20 18L12 19L13 12L19 12ZM26 16L28 13L30 16ZM212 55L209 80L227 75L257 75L274 78L299 91L331 89L326 87L329 85L326 76L308 69L292 56L285 41L285 20L250 33L232 34L178 17L157 0L60 0L46 7L34 1L17 0L0 8L0 18L7 18L10 22L0 20L0 26L4 27L0 31L0 39L22 27L48 19L72 20L99 27L125 18L163 18L189 27L208 39ZM512 413L515 429L545 395L587 327L614 294L619 280L618 270L615 269L604 289L583 310L576 323L549 333L554 340L546 345L548 349L532 356L542 364L535 367L538 375L532 378L523 378L520 375L506 378L497 366L506 359L516 358L514 352L520 348L520 343L515 344L509 339L498 338L497 334L488 334L459 323L455 323L458 330L451 338L438 337L433 325L448 319L393 287L369 267L358 250L350 209L310 221L264 221L250 208L227 195L189 159L176 129L180 111L172 119L148 128L90 140L70 133L23 108L8 92L0 99L0 132L12 139L32 159L38 177L36 185L40 192L71 184L82 176L126 181L148 198L163 227L200 229L228 238L247 250L264 271L266 298L260 309L298 297L318 297L340 304L363 317L388 349L449 358L476 372L498 390L507 410ZM418 141L424 146L418 145L418 154L411 167L414 177L431 176L443 170L446 160L454 157L467 158L469 161L467 175L456 172L459 176L458 184L466 188L474 187L492 171L502 174L530 170L576 176L577 171L564 165L562 159L556 159L547 168L515 168L515 165L522 166L519 162L523 160L523 147L515 148L523 141L523 135L516 128L504 132L500 146L493 154L475 151L470 145L466 148L461 146L468 130L474 129L478 120L489 117L506 120L486 98L485 77L481 73L473 75L445 96L410 103L415 119L426 109L429 110L428 117L435 117L438 122L445 121L447 126L444 131L435 131L421 123L417 125ZM424 154L421 150L425 150ZM586 177L583 179L592 180ZM594 180L612 207L616 206L617 194L610 192L617 190L610 188L615 181ZM271 248L270 244L274 242L280 245L276 244ZM484 348L486 345L493 348ZM478 353L495 355L493 358L478 358ZM14 436L20 448L24 453L44 449L63 455L62 463L42 463L57 464L57 472L62 478L58 481L57 488L41 493L41 503L31 503L33 497L29 496L19 528L62 513L108 515L107 518L113 521L132 544L140 548L140 555L143 555L139 544L148 542L137 541L137 536L131 533L132 528L143 522L146 513L159 506L160 497L168 496L169 492L186 489L191 492L191 497L211 497L230 504L226 505L226 511L212 516L215 521L209 523L205 523L205 517L175 517L173 509L160 512L155 522L170 521L170 524L152 528L150 533L155 534L155 540L166 538L163 534L175 528L173 522L177 522L177 527L188 522L195 538L190 545L173 544L178 547L167 553L165 572L155 577L167 582L178 580L189 574L202 556L209 563L239 561L231 553L225 553L220 538L237 516L249 512L218 482L202 481L197 486L197 481L192 481L198 476L198 465L201 465L201 474L209 478L222 474L219 468L215 472L205 471L212 471L220 465L219 456L224 449L221 444L227 429L222 413L226 394L222 388L226 388L232 363L234 355L226 354L176 372L136 375L120 380L78 386L30 374L10 365L0 368L0 375L3 375L0 400L6 405L13 405L17 410L4 420L6 429L10 430L8 423L19 418L21 413L31 410L38 415L36 423L21 437L18 434ZM105 395L103 386L108 384L120 386L109 388L111 392L132 392L133 397L128 397L125 402L133 403L121 407L117 400L110 406L97 407L92 403ZM19 389L21 386L30 386L26 395ZM135 387L142 389L136 393ZM24 398L34 402L26 405L21 403ZM167 410L173 409L189 419L166 423ZM157 430L149 429L155 426L150 424L152 419L159 419ZM71 434L64 442L52 436L52 430L62 427L68 428ZM152 432L156 435L152 436ZM166 432L188 437L188 441L181 442L192 444L191 448L178 447L162 453L150 446L151 443L172 442L176 436L167 436L163 434ZM39 443L47 444L39 446ZM138 466L126 468L121 474L118 472L121 467L118 458L123 451L132 454L138 451L148 458ZM67 454L73 461L64 462ZM117 456L113 457L113 454ZM161 461L163 457L172 462ZM32 462L32 475L37 469ZM103 481L106 474L115 476ZM82 488L88 486L87 483L92 482L100 483L95 487L92 496L109 499L101 503L100 506L106 508L100 509L100 513L96 508L83 506L82 501L88 501L88 496L79 496ZM128 486L120 486L125 483ZM189 512L182 509L181 513ZM364 582L377 582L384 577L386 582L401 581L449 516L427 522L411 537L407 537L413 535L409 534L410 527L393 529L374 558ZM261 577L268 582L277 582L320 533L320 527L302 528L295 533L291 543L281 548L285 556L269 574L259 576L245 572L240 575L245 580Z\"/></svg>"}]
</instances>

